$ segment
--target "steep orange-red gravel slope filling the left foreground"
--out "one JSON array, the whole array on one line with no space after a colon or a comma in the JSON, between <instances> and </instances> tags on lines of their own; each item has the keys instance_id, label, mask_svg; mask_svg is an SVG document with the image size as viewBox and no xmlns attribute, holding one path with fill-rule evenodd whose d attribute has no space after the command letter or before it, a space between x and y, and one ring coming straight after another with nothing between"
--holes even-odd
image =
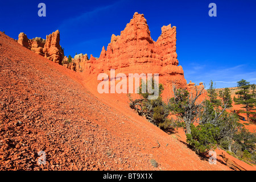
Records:
<instances>
[{"instance_id":1,"label":"steep orange-red gravel slope filling the left foreground","mask_svg":"<svg viewBox=\"0 0 256 182\"><path fill-rule=\"evenodd\" d=\"M95 75L53 63L2 32L0 60L1 170L231 170L220 156L217 165L201 159L182 131L168 135L139 117L125 95L98 94ZM46 164L38 166L42 150Z\"/></svg>"}]
</instances>

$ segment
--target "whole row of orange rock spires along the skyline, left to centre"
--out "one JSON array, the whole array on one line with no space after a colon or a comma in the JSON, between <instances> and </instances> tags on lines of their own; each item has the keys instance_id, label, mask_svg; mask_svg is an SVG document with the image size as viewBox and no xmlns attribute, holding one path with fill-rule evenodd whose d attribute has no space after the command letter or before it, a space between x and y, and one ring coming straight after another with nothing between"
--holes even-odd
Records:
<instances>
[{"instance_id":1,"label":"whole row of orange rock spires along the skyline, left to centre","mask_svg":"<svg viewBox=\"0 0 256 182\"><path fill-rule=\"evenodd\" d=\"M26 35L23 34L19 35L18 42L53 62L61 64L63 61L64 52L59 44L59 30L48 35L44 43L37 40L32 44L28 41L27 44ZM155 42L150 36L144 15L138 13L134 14L120 35L112 35L108 47L102 47L98 59L92 55L88 59L87 55L80 54L76 55L71 63L68 63L65 57L63 65L68 69L83 72L85 76L97 76L99 73L110 75L110 69L115 69L115 74L125 73L127 76L129 73L158 73L159 82L164 85L163 95L166 96L170 96L172 84L180 88L192 88L195 85L187 85L183 68L177 60L176 27L171 27L171 24L163 26L162 34Z\"/></svg>"}]
</instances>

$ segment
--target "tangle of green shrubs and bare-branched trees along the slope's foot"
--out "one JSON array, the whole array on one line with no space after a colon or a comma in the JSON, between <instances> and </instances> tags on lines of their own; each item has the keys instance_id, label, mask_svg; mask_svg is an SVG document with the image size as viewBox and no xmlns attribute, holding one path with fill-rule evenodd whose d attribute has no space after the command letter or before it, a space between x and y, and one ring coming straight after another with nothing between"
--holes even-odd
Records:
<instances>
[{"instance_id":1,"label":"tangle of green shrubs and bare-branched trees along the slope's foot","mask_svg":"<svg viewBox=\"0 0 256 182\"><path fill-rule=\"evenodd\" d=\"M130 106L162 130L183 127L188 144L197 153L220 146L237 158L255 163L255 134L246 131L243 125L238 123L239 117L236 113L226 111L226 108L232 106L230 89L225 88L217 92L213 81L210 82L209 88L209 100L199 101L204 89L195 86L189 93L188 90L174 85L174 97L167 103L164 103L160 96L156 100L147 100L148 93L140 92L142 98L135 101L130 99ZM159 90L160 93L163 92L162 85L159 85ZM254 90L252 94L255 94ZM217 100L218 96L221 100ZM175 121L168 118L170 113L178 119Z\"/></svg>"}]
</instances>

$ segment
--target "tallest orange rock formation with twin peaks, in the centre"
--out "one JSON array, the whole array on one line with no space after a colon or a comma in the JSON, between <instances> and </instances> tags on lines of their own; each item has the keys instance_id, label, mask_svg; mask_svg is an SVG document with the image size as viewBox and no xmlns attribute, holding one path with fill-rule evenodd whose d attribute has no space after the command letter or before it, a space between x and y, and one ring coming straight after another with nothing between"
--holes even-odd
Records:
<instances>
[{"instance_id":1,"label":"tallest orange rock formation with twin peaks, in the centre","mask_svg":"<svg viewBox=\"0 0 256 182\"><path fill-rule=\"evenodd\" d=\"M92 56L86 62L84 74L159 73L159 82L164 85L164 93L170 95L172 83L187 88L183 68L178 66L176 53L176 27L162 27L162 34L155 42L143 14L135 13L119 36L112 35L105 49L102 48L98 60Z\"/></svg>"}]
</instances>

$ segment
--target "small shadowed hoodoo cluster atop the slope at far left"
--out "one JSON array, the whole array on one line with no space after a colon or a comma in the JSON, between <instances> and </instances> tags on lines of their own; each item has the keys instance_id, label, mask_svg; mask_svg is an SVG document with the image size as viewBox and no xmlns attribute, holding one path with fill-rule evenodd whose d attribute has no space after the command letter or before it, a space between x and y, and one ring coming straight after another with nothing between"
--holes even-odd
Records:
<instances>
[{"instance_id":1,"label":"small shadowed hoodoo cluster atop the slope at far left","mask_svg":"<svg viewBox=\"0 0 256 182\"><path fill-rule=\"evenodd\" d=\"M23 32L19 34L18 43L49 60L61 64L64 58L64 51L60 46L59 30L47 35L46 39L33 38L28 39Z\"/></svg>"}]
</instances>

